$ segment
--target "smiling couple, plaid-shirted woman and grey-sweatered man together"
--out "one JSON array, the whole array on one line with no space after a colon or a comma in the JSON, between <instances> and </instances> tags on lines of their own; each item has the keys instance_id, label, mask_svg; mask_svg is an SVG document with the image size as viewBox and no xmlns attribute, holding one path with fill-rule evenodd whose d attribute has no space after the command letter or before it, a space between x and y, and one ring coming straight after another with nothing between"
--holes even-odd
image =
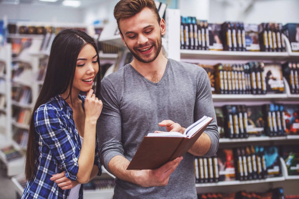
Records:
<instances>
[{"instance_id":1,"label":"smiling couple, plaid-shirted woman and grey-sweatered man together","mask_svg":"<svg viewBox=\"0 0 299 199\"><path fill-rule=\"evenodd\" d=\"M155 170L126 167L147 133L183 133L203 115L215 117L208 75L163 56L165 22L154 1L121 0L114 16L134 59L101 85L92 38L67 29L54 39L31 119L22 198L82 198L81 184L100 175L101 163L116 176L114 198L197 198L193 156L216 153L215 120L182 157Z\"/></svg>"}]
</instances>

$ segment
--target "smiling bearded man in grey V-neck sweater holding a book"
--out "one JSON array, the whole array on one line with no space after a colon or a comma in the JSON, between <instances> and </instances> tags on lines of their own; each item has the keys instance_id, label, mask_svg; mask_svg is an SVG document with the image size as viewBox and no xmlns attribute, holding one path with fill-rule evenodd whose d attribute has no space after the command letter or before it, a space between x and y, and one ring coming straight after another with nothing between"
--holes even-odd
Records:
<instances>
[{"instance_id":1,"label":"smiling bearded man in grey V-neck sweater holding a book","mask_svg":"<svg viewBox=\"0 0 299 199\"><path fill-rule=\"evenodd\" d=\"M101 83L103 110L97 133L103 164L116 176L114 198L197 198L193 155L216 153L216 119L183 157L155 170L126 168L147 133L183 133L181 126L204 115L216 118L208 75L199 66L163 56L165 22L154 1L121 0L114 16L134 56Z\"/></svg>"}]
</instances>

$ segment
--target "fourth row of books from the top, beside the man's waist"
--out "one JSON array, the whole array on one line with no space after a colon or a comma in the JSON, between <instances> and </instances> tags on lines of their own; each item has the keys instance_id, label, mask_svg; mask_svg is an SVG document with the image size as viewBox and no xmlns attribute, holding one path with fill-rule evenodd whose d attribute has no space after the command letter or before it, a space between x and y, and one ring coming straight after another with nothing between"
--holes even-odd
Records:
<instances>
[{"instance_id":1,"label":"fourth row of books from the top, beside the man's waist","mask_svg":"<svg viewBox=\"0 0 299 199\"><path fill-rule=\"evenodd\" d=\"M214 161L218 164L218 180L214 179L217 176L216 173L213 173L213 175L208 174L207 178L207 175L205 175L205 164L201 165L201 162L198 161L199 175L197 175L198 179L196 181L199 183L243 181L282 176L279 150L277 146L247 146L234 149L219 149L215 155L217 161ZM200 173L202 170L204 175ZM209 166L206 171L209 172Z\"/></svg>"}]
</instances>

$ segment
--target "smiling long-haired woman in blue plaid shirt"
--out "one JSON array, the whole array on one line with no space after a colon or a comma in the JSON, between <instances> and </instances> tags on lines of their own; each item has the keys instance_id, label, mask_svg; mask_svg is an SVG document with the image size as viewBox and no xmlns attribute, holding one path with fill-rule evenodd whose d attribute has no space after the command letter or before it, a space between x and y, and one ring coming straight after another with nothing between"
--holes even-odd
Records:
<instances>
[{"instance_id":1,"label":"smiling long-haired woman in blue plaid shirt","mask_svg":"<svg viewBox=\"0 0 299 199\"><path fill-rule=\"evenodd\" d=\"M74 29L58 33L31 117L22 198L83 198L81 184L101 174L95 133L102 111L98 71L90 36Z\"/></svg>"}]
</instances>

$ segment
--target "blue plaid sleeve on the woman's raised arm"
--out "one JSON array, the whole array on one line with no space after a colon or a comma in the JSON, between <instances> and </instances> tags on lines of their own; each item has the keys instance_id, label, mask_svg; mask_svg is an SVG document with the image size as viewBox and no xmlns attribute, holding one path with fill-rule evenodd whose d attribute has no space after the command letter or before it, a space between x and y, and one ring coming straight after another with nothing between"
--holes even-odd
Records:
<instances>
[{"instance_id":1,"label":"blue plaid sleeve on the woman's raised arm","mask_svg":"<svg viewBox=\"0 0 299 199\"><path fill-rule=\"evenodd\" d=\"M77 180L80 148L71 139L65 122L54 106L42 105L35 112L35 131L65 169L65 177Z\"/></svg>"}]
</instances>

